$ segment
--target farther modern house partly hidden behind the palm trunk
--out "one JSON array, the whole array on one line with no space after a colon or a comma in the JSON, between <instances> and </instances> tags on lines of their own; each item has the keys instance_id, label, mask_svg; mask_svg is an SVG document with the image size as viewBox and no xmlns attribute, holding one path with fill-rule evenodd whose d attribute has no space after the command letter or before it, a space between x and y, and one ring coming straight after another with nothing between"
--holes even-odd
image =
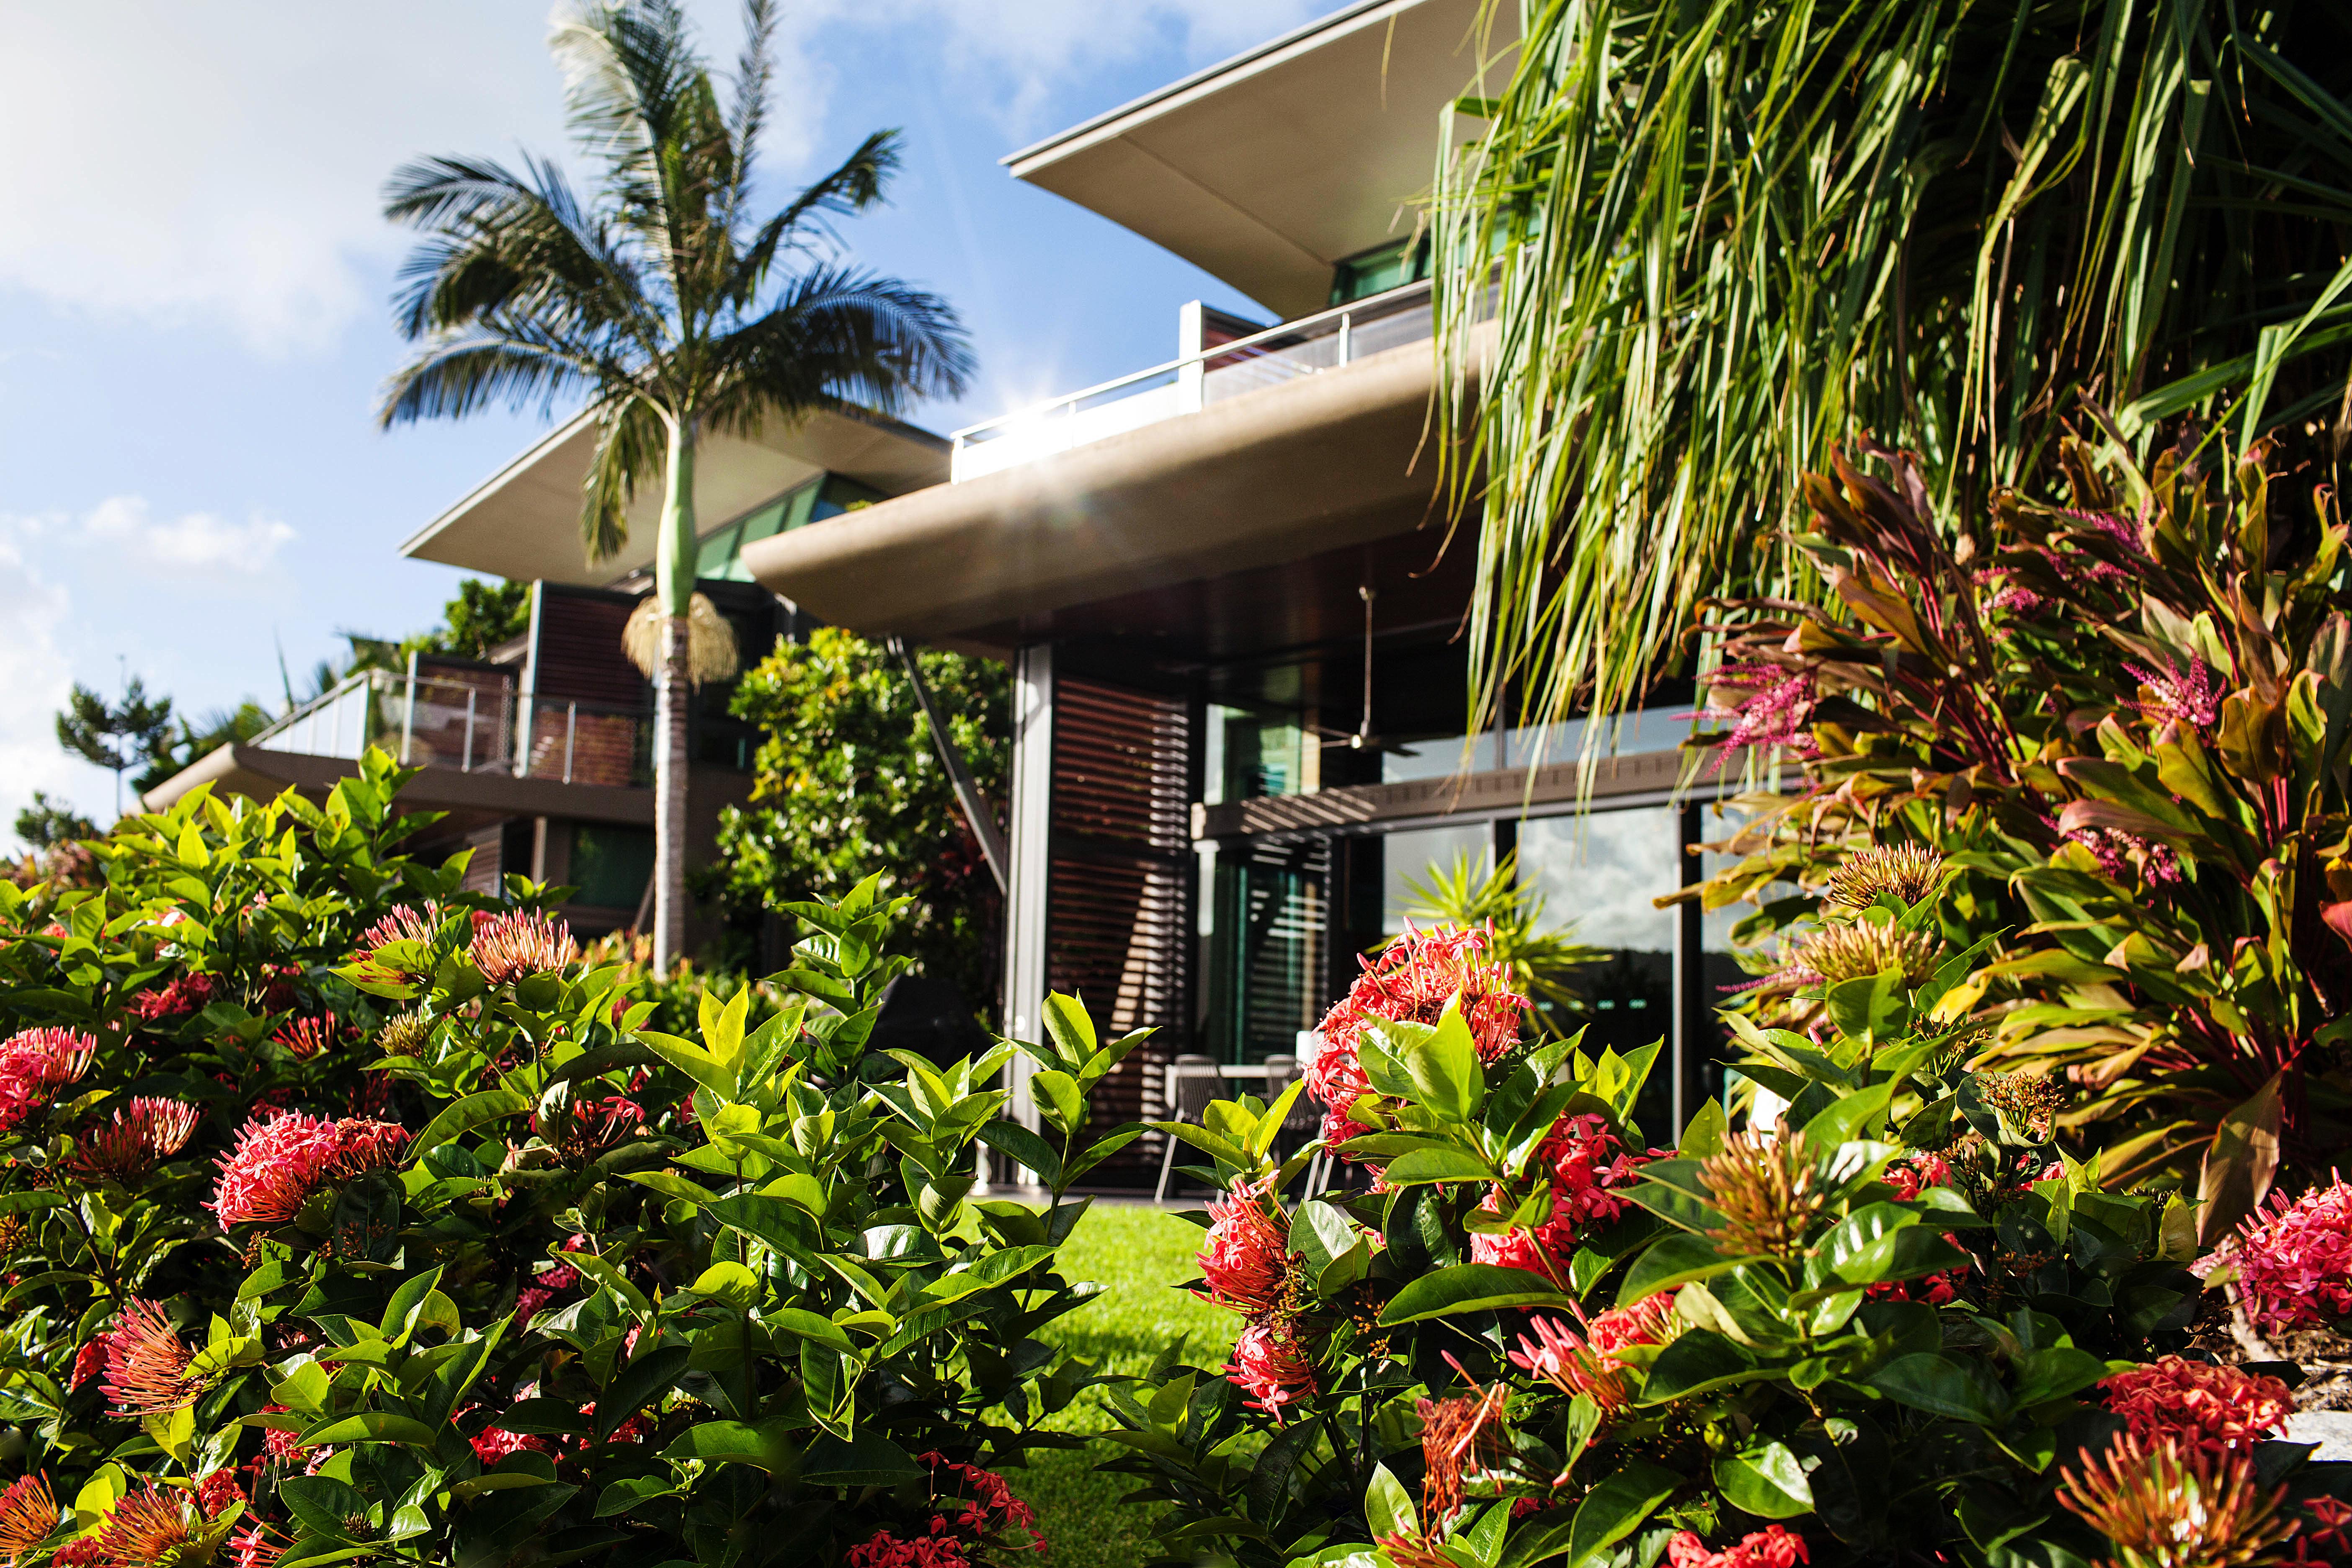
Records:
<instances>
[{"instance_id":1,"label":"farther modern house partly hidden behind the palm trunk","mask_svg":"<svg viewBox=\"0 0 2352 1568\"><path fill-rule=\"evenodd\" d=\"M579 886L567 917L586 936L640 926L654 865L654 696L621 654L621 625L652 585L661 496L637 496L621 555L586 564L579 515L593 444L588 418L567 423L400 545L412 559L529 583L522 637L480 663L362 670L183 769L148 804L167 806L205 780L254 797L287 785L322 795L381 745L423 769L402 802L447 813L416 853L470 846L468 879L485 891L506 872ZM913 425L847 414L706 444L694 505L715 527L703 534L699 588L734 623L746 658L795 635L800 614L750 581L743 545L938 484L948 451ZM750 795L757 733L727 712L731 689L703 686L689 717L689 867L713 858L720 809ZM689 945L710 936L703 917Z\"/></svg>"}]
</instances>

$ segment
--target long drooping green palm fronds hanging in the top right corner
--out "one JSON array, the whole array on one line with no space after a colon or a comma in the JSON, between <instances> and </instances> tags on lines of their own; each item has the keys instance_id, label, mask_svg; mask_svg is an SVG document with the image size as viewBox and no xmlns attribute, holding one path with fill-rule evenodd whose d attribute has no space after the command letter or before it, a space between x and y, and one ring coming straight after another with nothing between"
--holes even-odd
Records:
<instances>
[{"instance_id":1,"label":"long drooping green palm fronds hanging in the top right corner","mask_svg":"<svg viewBox=\"0 0 2352 1568\"><path fill-rule=\"evenodd\" d=\"M1703 595L1818 597L1783 534L1860 433L1957 529L2063 421L2345 440L2340 0L1517 9L1432 202L1482 717L1621 712Z\"/></svg>"}]
</instances>

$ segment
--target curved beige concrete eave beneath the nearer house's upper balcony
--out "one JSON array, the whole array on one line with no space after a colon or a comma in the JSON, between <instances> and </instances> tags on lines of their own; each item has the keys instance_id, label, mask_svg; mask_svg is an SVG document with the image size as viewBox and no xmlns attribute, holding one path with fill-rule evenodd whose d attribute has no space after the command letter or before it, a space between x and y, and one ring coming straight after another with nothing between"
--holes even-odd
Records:
<instances>
[{"instance_id":1,"label":"curved beige concrete eave beneath the nearer house's upper balcony","mask_svg":"<svg viewBox=\"0 0 2352 1568\"><path fill-rule=\"evenodd\" d=\"M1369 543L1435 515L1435 369L1430 343L1404 343L779 534L743 562L835 625L969 642L1023 616Z\"/></svg>"}]
</instances>

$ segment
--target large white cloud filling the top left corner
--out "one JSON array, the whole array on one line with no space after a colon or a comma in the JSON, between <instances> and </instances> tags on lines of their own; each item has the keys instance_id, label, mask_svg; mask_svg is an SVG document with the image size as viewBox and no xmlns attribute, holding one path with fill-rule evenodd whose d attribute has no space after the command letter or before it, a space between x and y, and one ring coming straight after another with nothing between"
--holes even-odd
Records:
<instances>
[{"instance_id":1,"label":"large white cloud filling the top left corner","mask_svg":"<svg viewBox=\"0 0 2352 1568\"><path fill-rule=\"evenodd\" d=\"M0 284L266 353L381 308L397 162L557 129L536 7L0 0Z\"/></svg>"}]
</instances>

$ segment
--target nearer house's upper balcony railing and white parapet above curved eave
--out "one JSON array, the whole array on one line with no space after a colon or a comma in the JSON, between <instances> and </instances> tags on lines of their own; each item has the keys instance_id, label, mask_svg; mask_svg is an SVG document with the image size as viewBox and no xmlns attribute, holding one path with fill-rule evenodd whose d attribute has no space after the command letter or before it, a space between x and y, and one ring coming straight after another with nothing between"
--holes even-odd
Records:
<instances>
[{"instance_id":1,"label":"nearer house's upper balcony railing and white parapet above curved eave","mask_svg":"<svg viewBox=\"0 0 2352 1568\"><path fill-rule=\"evenodd\" d=\"M957 430L953 480L962 484L1162 418L1200 414L1228 397L1289 386L1390 348L1423 343L1432 331L1430 284L1409 282L1258 331L1237 327L1232 317L1197 301L1185 306L1178 334L1185 348L1167 364Z\"/></svg>"}]
</instances>

